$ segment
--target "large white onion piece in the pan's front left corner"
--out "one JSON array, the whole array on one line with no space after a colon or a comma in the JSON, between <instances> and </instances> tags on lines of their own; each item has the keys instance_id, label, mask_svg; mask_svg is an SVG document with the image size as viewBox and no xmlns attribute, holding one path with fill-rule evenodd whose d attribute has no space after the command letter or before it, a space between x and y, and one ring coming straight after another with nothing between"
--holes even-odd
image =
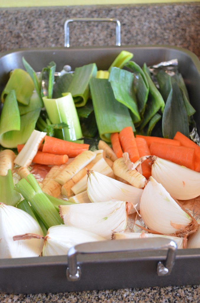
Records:
<instances>
[{"instance_id":1,"label":"large white onion piece in the pan's front left corner","mask_svg":"<svg viewBox=\"0 0 200 303\"><path fill-rule=\"evenodd\" d=\"M14 206L0 203L0 258L41 255L43 239L13 241L13 236L24 233L43 234L40 225L31 215Z\"/></svg>"}]
</instances>

